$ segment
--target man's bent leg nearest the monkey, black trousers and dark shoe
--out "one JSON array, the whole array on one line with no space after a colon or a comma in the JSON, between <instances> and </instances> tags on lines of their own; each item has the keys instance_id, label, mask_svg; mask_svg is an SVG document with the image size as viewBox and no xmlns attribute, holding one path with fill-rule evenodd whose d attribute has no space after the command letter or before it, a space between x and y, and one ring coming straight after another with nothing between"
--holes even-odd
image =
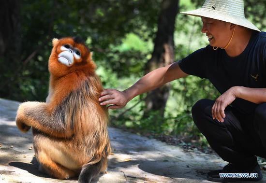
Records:
<instances>
[{"instance_id":1,"label":"man's bent leg nearest the monkey, black trousers and dark shoe","mask_svg":"<svg viewBox=\"0 0 266 183\"><path fill-rule=\"evenodd\" d=\"M262 179L260 167L255 155L244 151L248 138L239 120L233 113L232 107L225 109L224 122L213 120L211 108L213 100L201 99L192 107L192 117L195 125L206 137L212 149L229 162L222 170L210 171L207 178L215 182L259 181ZM223 178L220 173L257 173L254 178ZM244 175L244 174L242 174ZM246 176L247 174L245 174Z\"/></svg>"}]
</instances>

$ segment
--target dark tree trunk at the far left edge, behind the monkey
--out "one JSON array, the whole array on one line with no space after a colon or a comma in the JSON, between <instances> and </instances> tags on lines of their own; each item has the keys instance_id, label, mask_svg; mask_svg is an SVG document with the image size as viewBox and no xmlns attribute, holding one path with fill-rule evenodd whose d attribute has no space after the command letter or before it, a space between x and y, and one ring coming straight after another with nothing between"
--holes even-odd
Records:
<instances>
[{"instance_id":1,"label":"dark tree trunk at the far left edge, behind the monkey","mask_svg":"<svg viewBox=\"0 0 266 183\"><path fill-rule=\"evenodd\" d=\"M8 98L11 82L5 82L21 64L20 0L2 0L0 5L0 97ZM15 88L17 89L17 88Z\"/></svg>"}]
</instances>

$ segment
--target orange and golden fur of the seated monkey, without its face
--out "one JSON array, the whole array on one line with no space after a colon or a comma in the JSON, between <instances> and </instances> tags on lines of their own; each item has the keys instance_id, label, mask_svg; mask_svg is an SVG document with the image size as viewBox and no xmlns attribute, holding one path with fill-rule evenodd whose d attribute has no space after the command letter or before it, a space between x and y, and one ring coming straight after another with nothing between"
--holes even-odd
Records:
<instances>
[{"instance_id":1,"label":"orange and golden fur of the seated monkey, without its face","mask_svg":"<svg viewBox=\"0 0 266 183\"><path fill-rule=\"evenodd\" d=\"M58 61L60 47L70 44L81 52L67 67ZM103 90L89 49L73 38L53 40L49 58L49 95L44 102L19 106L16 125L26 132L32 127L33 145L42 168L59 179L78 175L84 165L107 167L110 142L108 112L99 104Z\"/></svg>"}]
</instances>

